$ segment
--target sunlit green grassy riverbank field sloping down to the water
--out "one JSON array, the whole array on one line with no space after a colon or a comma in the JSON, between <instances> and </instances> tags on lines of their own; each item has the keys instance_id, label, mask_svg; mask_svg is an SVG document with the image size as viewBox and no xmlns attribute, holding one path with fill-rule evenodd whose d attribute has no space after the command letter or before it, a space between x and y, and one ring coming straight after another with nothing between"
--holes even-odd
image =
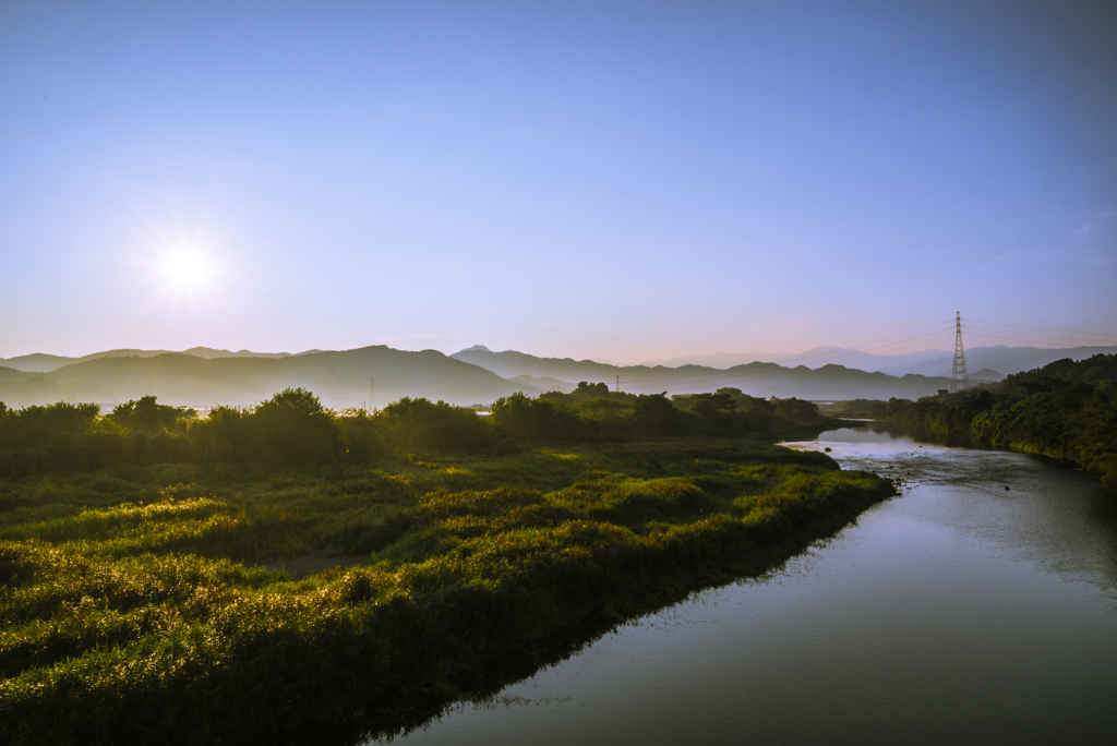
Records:
<instances>
[{"instance_id":1,"label":"sunlit green grassy riverbank field sloping down to the water","mask_svg":"<svg viewBox=\"0 0 1117 746\"><path fill-rule=\"evenodd\" d=\"M391 734L891 494L727 438L9 479L0 742Z\"/></svg>"}]
</instances>

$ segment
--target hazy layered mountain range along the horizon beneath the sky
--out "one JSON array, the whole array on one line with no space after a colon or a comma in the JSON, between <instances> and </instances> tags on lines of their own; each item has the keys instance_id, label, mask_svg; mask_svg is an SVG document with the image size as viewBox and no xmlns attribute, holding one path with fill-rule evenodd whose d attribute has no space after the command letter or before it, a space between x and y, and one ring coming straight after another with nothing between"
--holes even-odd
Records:
<instances>
[{"instance_id":1,"label":"hazy layered mountain range along the horizon beneath the sky","mask_svg":"<svg viewBox=\"0 0 1117 746\"><path fill-rule=\"evenodd\" d=\"M1082 358L1111 351L1117 348L977 347L966 356L970 370L990 363L1000 365L971 373L973 383L997 381L1004 372L1030 370L1063 357ZM833 347L824 352L841 360L851 351ZM894 375L834 363L818 367L760 361L729 367L613 365L515 351L493 352L481 345L452 355L383 345L297 354L208 347L184 352L113 350L78 358L37 354L0 360L0 401L9 407L56 401L92 401L111 407L154 394L161 402L175 405L254 405L285 388L302 386L334 409L383 407L403 396L469 405L488 404L515 392L537 395L570 391L582 381L632 393L700 393L728 386L754 396L814 401L918 399L949 388L952 363L952 357L929 357L905 367L944 374L892 369L900 373Z\"/></svg>"}]
</instances>

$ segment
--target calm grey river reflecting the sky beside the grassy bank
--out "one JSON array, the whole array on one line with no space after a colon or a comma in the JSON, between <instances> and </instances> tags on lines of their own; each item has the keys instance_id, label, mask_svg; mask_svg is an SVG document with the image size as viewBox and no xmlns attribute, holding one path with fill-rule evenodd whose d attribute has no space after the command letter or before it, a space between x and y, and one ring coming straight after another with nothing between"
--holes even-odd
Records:
<instances>
[{"instance_id":1,"label":"calm grey river reflecting the sky beside the grassy bank","mask_svg":"<svg viewBox=\"0 0 1117 746\"><path fill-rule=\"evenodd\" d=\"M867 428L791 446L901 495L394 743L1117 743L1113 492Z\"/></svg>"}]
</instances>

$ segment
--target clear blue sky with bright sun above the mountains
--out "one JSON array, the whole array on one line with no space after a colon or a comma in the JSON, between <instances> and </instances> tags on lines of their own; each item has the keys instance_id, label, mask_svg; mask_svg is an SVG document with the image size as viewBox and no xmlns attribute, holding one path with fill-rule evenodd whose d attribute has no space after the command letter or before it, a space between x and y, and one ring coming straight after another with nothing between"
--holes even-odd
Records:
<instances>
[{"instance_id":1,"label":"clear blue sky with bright sun above the mountains","mask_svg":"<svg viewBox=\"0 0 1117 746\"><path fill-rule=\"evenodd\" d=\"M0 0L0 357L1111 335L1115 38L1111 1Z\"/></svg>"}]
</instances>

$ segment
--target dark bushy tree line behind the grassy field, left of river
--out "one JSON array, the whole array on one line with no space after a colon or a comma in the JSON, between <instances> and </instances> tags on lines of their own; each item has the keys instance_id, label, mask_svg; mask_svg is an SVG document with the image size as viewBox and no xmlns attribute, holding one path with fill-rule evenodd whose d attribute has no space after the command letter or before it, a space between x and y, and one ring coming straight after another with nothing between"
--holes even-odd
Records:
<instances>
[{"instance_id":1,"label":"dark bushy tree line behind the grassy field, left of river","mask_svg":"<svg viewBox=\"0 0 1117 746\"><path fill-rule=\"evenodd\" d=\"M0 476L164 461L344 465L397 451L515 451L691 434L773 440L827 422L812 403L796 399L763 400L736 389L669 399L585 382L570 394L505 396L487 417L421 398L403 398L376 412L334 412L305 389L286 389L248 410L216 407L204 418L155 396L118 404L108 414L92 403L13 410L0 402Z\"/></svg>"}]
</instances>

